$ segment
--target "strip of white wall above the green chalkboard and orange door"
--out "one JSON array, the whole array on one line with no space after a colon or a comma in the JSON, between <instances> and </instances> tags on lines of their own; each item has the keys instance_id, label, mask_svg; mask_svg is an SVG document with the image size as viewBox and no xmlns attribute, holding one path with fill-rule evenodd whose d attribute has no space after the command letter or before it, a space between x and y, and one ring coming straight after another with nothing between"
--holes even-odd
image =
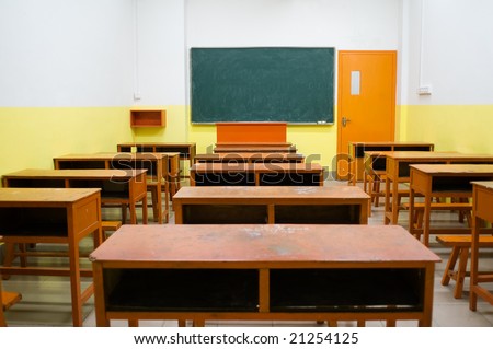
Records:
<instances>
[{"instance_id":1,"label":"strip of white wall above the green chalkboard and orange door","mask_svg":"<svg viewBox=\"0 0 493 349\"><path fill-rule=\"evenodd\" d=\"M395 0L187 0L187 45L395 49Z\"/></svg>"}]
</instances>

